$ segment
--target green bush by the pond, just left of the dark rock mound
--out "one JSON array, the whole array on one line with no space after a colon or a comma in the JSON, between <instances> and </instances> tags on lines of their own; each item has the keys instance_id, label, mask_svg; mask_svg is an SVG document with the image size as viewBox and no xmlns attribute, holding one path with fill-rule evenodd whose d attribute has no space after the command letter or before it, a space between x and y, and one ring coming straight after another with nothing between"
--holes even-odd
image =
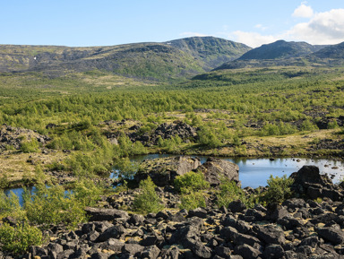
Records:
<instances>
[{"instance_id":1,"label":"green bush by the pond, just left of the dark rock mound","mask_svg":"<svg viewBox=\"0 0 344 259\"><path fill-rule=\"evenodd\" d=\"M282 203L290 198L292 192L290 186L293 184L293 179L283 177L272 177L268 179L268 190L262 194L262 199L266 203Z\"/></svg>"}]
</instances>

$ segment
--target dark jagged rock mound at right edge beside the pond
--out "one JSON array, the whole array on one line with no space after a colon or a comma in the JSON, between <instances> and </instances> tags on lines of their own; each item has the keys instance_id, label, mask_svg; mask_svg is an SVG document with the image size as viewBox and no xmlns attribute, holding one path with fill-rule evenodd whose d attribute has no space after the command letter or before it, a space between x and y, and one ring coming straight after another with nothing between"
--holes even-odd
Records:
<instances>
[{"instance_id":1,"label":"dark jagged rock mound at right edge beside the pond","mask_svg":"<svg viewBox=\"0 0 344 259\"><path fill-rule=\"evenodd\" d=\"M315 166L304 166L290 177L294 179L292 190L300 196L310 199L326 197L332 201L342 201L344 198L343 189L333 185L331 179L321 175Z\"/></svg>"}]
</instances>

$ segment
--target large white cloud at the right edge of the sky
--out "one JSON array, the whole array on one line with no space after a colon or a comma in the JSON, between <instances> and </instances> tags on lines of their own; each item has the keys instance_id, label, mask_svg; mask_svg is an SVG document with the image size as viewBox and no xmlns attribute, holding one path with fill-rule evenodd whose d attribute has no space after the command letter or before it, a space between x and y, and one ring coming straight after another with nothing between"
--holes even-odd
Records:
<instances>
[{"instance_id":1,"label":"large white cloud at the right edge of the sky","mask_svg":"<svg viewBox=\"0 0 344 259\"><path fill-rule=\"evenodd\" d=\"M337 44L344 41L344 9L315 13L309 22L295 25L288 31L290 39L311 44Z\"/></svg>"}]
</instances>

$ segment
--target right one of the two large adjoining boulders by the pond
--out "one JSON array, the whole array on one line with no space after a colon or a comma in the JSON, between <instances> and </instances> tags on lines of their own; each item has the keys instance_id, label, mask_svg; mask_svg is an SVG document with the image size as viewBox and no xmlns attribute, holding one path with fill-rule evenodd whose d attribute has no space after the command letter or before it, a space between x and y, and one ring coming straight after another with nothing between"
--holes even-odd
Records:
<instances>
[{"instance_id":1,"label":"right one of the two large adjoining boulders by the pond","mask_svg":"<svg viewBox=\"0 0 344 259\"><path fill-rule=\"evenodd\" d=\"M211 186L219 186L221 178L229 181L239 182L239 167L227 160L209 158L198 168L205 176L205 179L211 183Z\"/></svg>"}]
</instances>

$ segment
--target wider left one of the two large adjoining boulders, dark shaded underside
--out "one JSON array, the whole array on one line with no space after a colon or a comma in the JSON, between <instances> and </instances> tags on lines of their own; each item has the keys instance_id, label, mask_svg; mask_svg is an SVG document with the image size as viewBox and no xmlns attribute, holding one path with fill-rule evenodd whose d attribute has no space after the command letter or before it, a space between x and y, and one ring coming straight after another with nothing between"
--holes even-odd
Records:
<instances>
[{"instance_id":1,"label":"wider left one of the two large adjoining boulders, dark shaded underside","mask_svg":"<svg viewBox=\"0 0 344 259\"><path fill-rule=\"evenodd\" d=\"M182 176L200 165L199 159L187 156L144 160L135 174L134 180L139 183L142 179L150 176L157 186L168 186L173 184L177 176Z\"/></svg>"}]
</instances>

